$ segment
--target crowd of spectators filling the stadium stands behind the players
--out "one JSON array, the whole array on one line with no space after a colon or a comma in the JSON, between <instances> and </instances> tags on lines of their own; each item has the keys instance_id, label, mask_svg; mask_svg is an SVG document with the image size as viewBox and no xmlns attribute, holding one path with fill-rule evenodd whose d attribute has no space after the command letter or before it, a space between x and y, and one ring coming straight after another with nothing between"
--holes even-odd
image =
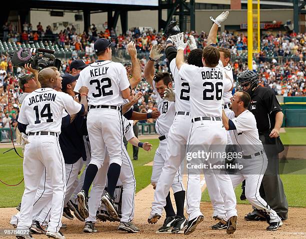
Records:
<instances>
[{"instance_id":1,"label":"crowd of spectators filling the stadium stands behind the players","mask_svg":"<svg viewBox=\"0 0 306 239\"><path fill-rule=\"evenodd\" d=\"M5 23L3 31L7 32L3 35L3 40L17 38L15 29L11 24ZM36 26L37 30L33 32L30 23L23 24L23 33L28 35L27 40L31 39L31 35L38 34L38 37L45 34L53 34L50 26L44 30L39 23ZM23 34L22 33L22 34ZM190 32L194 35L198 47L205 47L207 44L207 33L205 32ZM22 40L21 34L21 40ZM188 36L185 33L185 37ZM85 56L82 58L86 64L95 60L93 51L93 42L96 38L107 37L116 43L116 50L125 50L127 43L130 40L135 41L138 52L149 52L151 45L161 43L165 45L165 39L161 32L155 30L140 31L139 28L129 29L125 35L116 35L113 29L97 32L94 24L91 25L88 33L76 33L76 29L67 27L65 30L58 33L58 43L65 47L73 45L78 51L85 51ZM23 39L25 40L25 35ZM35 40L35 38L33 39ZM253 70L259 74L259 84L272 88L276 95L283 96L306 96L306 33L291 33L286 34L278 32L277 34L265 34L261 38L261 51L254 55ZM234 79L237 78L240 72L247 68L247 62L240 60L238 56L247 48L247 37L241 33L233 35L228 31L221 32L218 35L218 46L231 48L232 52L232 69ZM185 49L187 54L188 48ZM72 55L72 59L78 55ZM72 59L62 60L62 72L69 72L69 64ZM142 72L147 61L147 55L143 54L139 57ZM156 61L156 72L168 71L166 58ZM6 56L1 55L0 60L0 128L7 127L8 121L12 127L15 127L15 117L18 109L17 94L19 89L8 83L8 65ZM18 68L14 71L16 76L13 76L15 85L18 81L18 75L24 73L23 68ZM156 109L157 96L152 93L150 86L144 79L139 83L136 91L142 91L143 97L138 102L140 112L151 112ZM8 95L7 95L7 92ZM7 97L9 97L9 105L7 105ZM153 122L147 121L147 122Z\"/></svg>"}]
</instances>

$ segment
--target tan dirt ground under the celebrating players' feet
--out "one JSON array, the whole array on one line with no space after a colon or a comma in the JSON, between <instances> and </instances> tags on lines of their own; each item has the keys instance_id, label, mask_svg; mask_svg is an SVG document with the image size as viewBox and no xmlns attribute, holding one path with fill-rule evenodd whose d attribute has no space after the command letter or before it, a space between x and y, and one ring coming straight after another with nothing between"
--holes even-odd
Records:
<instances>
[{"instance_id":1,"label":"tan dirt ground under the celebrating players' feet","mask_svg":"<svg viewBox=\"0 0 306 239\"><path fill-rule=\"evenodd\" d=\"M150 212L150 203L153 199L152 186L139 191L135 196L135 218L133 222L140 229L138 233L125 233L117 230L117 222L97 222L96 233L84 233L82 231L84 223L74 219L68 220L63 218L62 222L67 224L67 228L61 229L66 238L306 238L306 208L289 208L288 220L283 222L282 227L277 231L266 231L267 223L264 221L251 222L245 221L243 216L251 209L250 205L237 205L238 210L238 227L237 231L232 235L227 235L225 230L212 230L210 225L215 221L210 218L212 213L210 202L201 202L201 211L205 218L196 230L185 236L184 234L170 234L170 233L155 233L155 231L162 225L164 215L154 225L147 223L147 216ZM12 236L4 236L2 228L11 228L9 225L10 216L16 213L15 208L0 208L0 238L13 238ZM46 238L45 235L33 235L34 238Z\"/></svg>"}]
</instances>

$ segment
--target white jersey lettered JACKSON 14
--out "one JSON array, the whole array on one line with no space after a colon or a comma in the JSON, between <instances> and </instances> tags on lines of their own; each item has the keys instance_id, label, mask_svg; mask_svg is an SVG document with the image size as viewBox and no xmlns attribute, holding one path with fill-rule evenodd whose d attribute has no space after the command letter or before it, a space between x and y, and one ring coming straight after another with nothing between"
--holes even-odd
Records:
<instances>
[{"instance_id":1,"label":"white jersey lettered JACKSON 14","mask_svg":"<svg viewBox=\"0 0 306 239\"><path fill-rule=\"evenodd\" d=\"M26 133L38 131L60 133L63 109L69 114L74 114L81 109L81 104L66 93L52 88L39 88L23 100L18 122L28 124Z\"/></svg>"}]
</instances>

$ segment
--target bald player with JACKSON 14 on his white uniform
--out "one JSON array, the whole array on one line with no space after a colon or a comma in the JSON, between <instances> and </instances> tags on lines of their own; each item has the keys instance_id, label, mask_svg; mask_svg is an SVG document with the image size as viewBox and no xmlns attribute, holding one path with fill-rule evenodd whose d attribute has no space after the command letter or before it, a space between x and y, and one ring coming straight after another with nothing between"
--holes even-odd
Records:
<instances>
[{"instance_id":1,"label":"bald player with JACKSON 14 on his white uniform","mask_svg":"<svg viewBox=\"0 0 306 239\"><path fill-rule=\"evenodd\" d=\"M65 93L57 92L54 88L61 88L61 77L57 78L53 69L42 69L38 74L42 88L34 90L26 96L20 108L18 128L20 132L28 134L28 143L24 149L23 174L24 193L20 209L20 221L17 225L17 238L30 238L28 228L32 224L32 207L39 181L33 175L42 176L46 173L52 178L52 206L50 221L46 235L64 239L59 232L65 193L65 173L62 153L58 144L61 117L63 109L68 113L86 112L87 89L81 87L81 103L75 102Z\"/></svg>"}]
</instances>

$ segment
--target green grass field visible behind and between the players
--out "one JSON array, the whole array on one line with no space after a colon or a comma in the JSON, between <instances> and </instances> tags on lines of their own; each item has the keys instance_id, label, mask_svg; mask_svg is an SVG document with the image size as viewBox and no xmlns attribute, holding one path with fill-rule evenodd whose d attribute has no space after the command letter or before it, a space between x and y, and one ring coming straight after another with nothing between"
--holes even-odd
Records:
<instances>
[{"instance_id":1,"label":"green grass field visible behind and between the players","mask_svg":"<svg viewBox=\"0 0 306 239\"><path fill-rule=\"evenodd\" d=\"M286 128L286 133L281 133L281 139L284 144L305 144L306 128ZM142 140L144 141L144 140ZM138 161L132 160L135 177L136 177L136 191L141 190L150 184L151 166L144 166L144 164L153 160L154 152L158 146L158 139L148 139L153 148L150 152L139 149ZM0 149L0 179L8 184L16 184L22 179L22 159L19 158L14 151L2 154L7 148ZM21 152L21 149L18 148ZM128 154L132 155L132 147L128 144ZM306 170L299 164L293 164L292 167L301 168L295 174L281 175L285 187L286 196L290 206L306 207ZM37 178L38 180L38 178ZM21 199L24 185L23 182L18 186L6 186L0 183L0 207L16 206ZM239 196L241 189L236 188L236 195ZM202 195L203 201L209 201L208 193L205 190ZM237 200L238 203L247 203L246 201Z\"/></svg>"}]
</instances>

